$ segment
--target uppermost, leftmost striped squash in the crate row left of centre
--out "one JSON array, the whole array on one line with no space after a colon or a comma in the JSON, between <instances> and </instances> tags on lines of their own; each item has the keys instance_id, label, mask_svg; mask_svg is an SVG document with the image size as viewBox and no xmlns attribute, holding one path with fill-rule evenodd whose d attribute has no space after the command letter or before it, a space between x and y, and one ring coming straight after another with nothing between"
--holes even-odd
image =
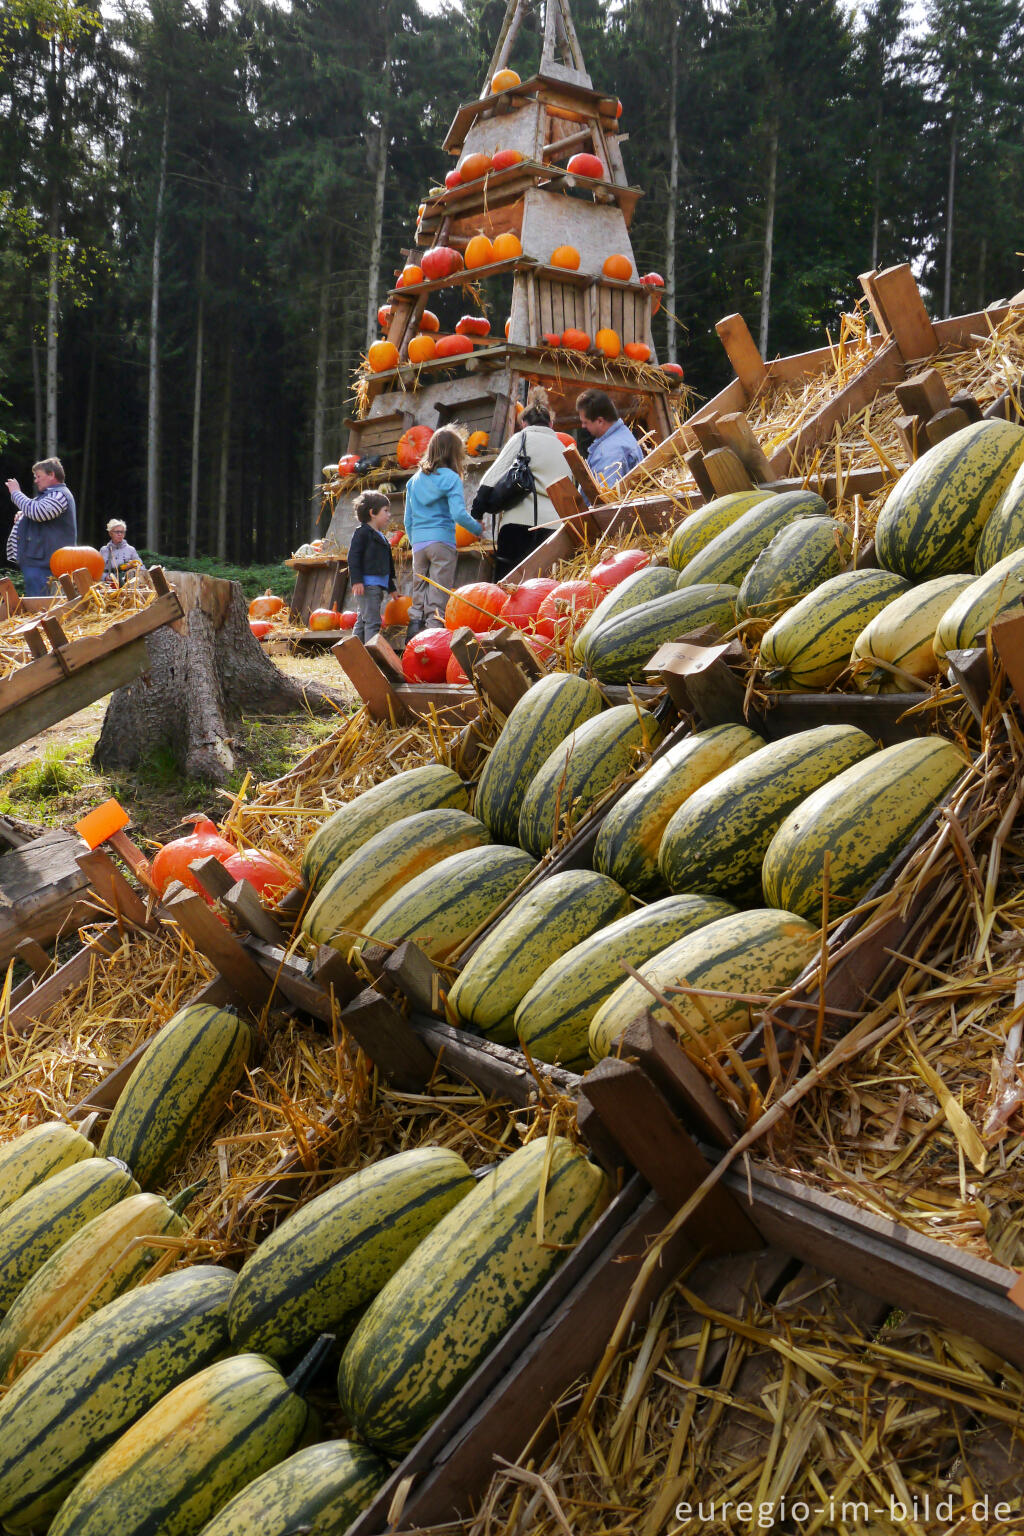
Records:
<instances>
[{"instance_id":1,"label":"uppermost, leftmost striped squash in the crate row left of centre","mask_svg":"<svg viewBox=\"0 0 1024 1536\"><path fill-rule=\"evenodd\" d=\"M442 763L407 768L372 785L329 816L302 852L302 885L319 891L324 880L376 833L418 811L470 809L470 791L457 773Z\"/></svg>"}]
</instances>

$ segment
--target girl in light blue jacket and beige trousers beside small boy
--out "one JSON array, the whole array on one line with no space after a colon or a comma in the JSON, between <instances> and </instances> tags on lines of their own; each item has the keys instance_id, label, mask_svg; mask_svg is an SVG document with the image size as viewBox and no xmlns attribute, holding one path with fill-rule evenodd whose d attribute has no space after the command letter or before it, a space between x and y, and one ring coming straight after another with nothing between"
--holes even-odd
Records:
<instances>
[{"instance_id":1,"label":"girl in light blue jacket and beige trousers beside small boy","mask_svg":"<svg viewBox=\"0 0 1024 1536\"><path fill-rule=\"evenodd\" d=\"M447 591L454 587L456 524L470 533L484 531L465 510L464 475L462 433L457 427L438 427L405 487L405 536L413 547L408 639L419 630L444 625Z\"/></svg>"}]
</instances>

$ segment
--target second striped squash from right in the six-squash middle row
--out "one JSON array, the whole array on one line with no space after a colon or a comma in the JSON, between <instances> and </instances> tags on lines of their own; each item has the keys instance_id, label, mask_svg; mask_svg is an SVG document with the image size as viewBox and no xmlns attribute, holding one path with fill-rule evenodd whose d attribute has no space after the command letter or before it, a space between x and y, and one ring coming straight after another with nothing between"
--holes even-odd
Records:
<instances>
[{"instance_id":1,"label":"second striped squash from right in the six-squash middle row","mask_svg":"<svg viewBox=\"0 0 1024 1536\"><path fill-rule=\"evenodd\" d=\"M729 917L714 895L666 895L620 917L543 971L516 1009L516 1034L537 1061L586 1064L590 1025L600 1005L634 969L706 923Z\"/></svg>"}]
</instances>

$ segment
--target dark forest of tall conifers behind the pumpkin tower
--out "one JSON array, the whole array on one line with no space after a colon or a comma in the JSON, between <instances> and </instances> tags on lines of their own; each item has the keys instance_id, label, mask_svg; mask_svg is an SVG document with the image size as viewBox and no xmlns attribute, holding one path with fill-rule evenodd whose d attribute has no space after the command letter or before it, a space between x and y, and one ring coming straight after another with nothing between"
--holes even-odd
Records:
<instances>
[{"instance_id":1,"label":"dark forest of tall conifers behind the pumpkin tower","mask_svg":"<svg viewBox=\"0 0 1024 1536\"><path fill-rule=\"evenodd\" d=\"M504 9L5 0L0 479L57 452L94 544L114 515L150 550L241 564L309 538ZM729 376L732 310L772 356L835 333L870 267L912 261L935 315L1021 287L1024 0L573 14L646 190L631 235L668 284L656 344L699 395Z\"/></svg>"}]
</instances>

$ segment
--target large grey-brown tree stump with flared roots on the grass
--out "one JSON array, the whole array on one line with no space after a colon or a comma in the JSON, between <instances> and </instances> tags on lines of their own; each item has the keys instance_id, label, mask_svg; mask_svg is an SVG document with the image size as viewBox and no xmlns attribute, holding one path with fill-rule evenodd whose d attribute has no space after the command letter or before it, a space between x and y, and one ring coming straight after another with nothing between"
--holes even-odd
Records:
<instances>
[{"instance_id":1,"label":"large grey-brown tree stump with flared roots on the grass","mask_svg":"<svg viewBox=\"0 0 1024 1536\"><path fill-rule=\"evenodd\" d=\"M350 703L319 684L278 671L249 628L238 582L167 571L184 616L146 637L149 668L111 696L94 762L134 768L170 746L192 779L224 783L235 768L233 733L253 714L327 711Z\"/></svg>"}]
</instances>

